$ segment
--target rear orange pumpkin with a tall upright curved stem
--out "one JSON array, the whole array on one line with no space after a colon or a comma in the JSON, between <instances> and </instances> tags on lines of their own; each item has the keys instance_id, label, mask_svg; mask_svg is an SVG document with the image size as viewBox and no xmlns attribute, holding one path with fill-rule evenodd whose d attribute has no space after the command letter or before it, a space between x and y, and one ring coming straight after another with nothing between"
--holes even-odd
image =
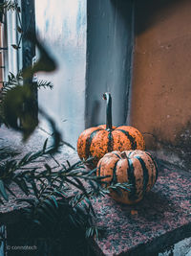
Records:
<instances>
[{"instance_id":1,"label":"rear orange pumpkin with a tall upright curved stem","mask_svg":"<svg viewBox=\"0 0 191 256\"><path fill-rule=\"evenodd\" d=\"M112 126L112 98L105 93L103 99L107 101L106 125L85 129L77 140L77 152L80 159L87 160L94 157L89 168L96 168L98 160L110 151L144 150L145 144L142 134L137 128Z\"/></svg>"}]
</instances>

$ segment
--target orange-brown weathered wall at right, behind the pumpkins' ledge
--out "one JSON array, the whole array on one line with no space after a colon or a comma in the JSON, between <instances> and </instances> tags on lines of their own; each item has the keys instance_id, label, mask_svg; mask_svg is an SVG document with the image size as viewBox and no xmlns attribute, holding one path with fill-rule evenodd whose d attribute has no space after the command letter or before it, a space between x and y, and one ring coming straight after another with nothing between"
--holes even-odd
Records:
<instances>
[{"instance_id":1,"label":"orange-brown weathered wall at right, behind the pumpkins' ledge","mask_svg":"<svg viewBox=\"0 0 191 256\"><path fill-rule=\"evenodd\" d=\"M137 0L131 125L191 170L191 1Z\"/></svg>"}]
</instances>

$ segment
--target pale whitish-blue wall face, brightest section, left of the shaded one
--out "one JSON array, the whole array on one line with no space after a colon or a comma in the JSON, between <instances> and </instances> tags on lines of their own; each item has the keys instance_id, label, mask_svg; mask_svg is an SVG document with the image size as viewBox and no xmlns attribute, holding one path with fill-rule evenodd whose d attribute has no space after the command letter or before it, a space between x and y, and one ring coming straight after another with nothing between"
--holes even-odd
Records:
<instances>
[{"instance_id":1,"label":"pale whitish-blue wall face, brightest section, left of the shaded one","mask_svg":"<svg viewBox=\"0 0 191 256\"><path fill-rule=\"evenodd\" d=\"M85 127L86 0L36 0L35 15L36 29L59 66L53 74L38 74L54 85L52 91L39 90L38 103L75 147Z\"/></svg>"}]
</instances>

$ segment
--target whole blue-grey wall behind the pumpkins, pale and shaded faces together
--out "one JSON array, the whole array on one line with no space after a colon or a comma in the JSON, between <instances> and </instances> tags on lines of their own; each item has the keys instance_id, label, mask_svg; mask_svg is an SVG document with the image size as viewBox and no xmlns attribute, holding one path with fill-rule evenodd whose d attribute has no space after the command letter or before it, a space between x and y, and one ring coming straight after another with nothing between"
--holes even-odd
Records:
<instances>
[{"instance_id":1,"label":"whole blue-grey wall behind the pumpkins, pale and shaded faces together","mask_svg":"<svg viewBox=\"0 0 191 256\"><path fill-rule=\"evenodd\" d=\"M86 127L105 124L102 94L113 96L114 125L129 113L133 51L133 0L35 0L36 28L59 69L38 78L53 81L39 91L64 139L76 145ZM46 128L43 123L41 125Z\"/></svg>"}]
</instances>

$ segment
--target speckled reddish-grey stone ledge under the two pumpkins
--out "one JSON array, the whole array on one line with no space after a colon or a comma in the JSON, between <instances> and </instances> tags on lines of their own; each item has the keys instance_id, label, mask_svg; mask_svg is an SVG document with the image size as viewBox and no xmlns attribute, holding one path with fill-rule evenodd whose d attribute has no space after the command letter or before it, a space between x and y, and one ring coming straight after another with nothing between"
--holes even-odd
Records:
<instances>
[{"instance_id":1,"label":"speckled reddish-grey stone ledge under the two pumpkins","mask_svg":"<svg viewBox=\"0 0 191 256\"><path fill-rule=\"evenodd\" d=\"M1 145L26 153L39 150L47 136L36 131L25 146L19 134L6 128L1 128L0 137ZM59 158L62 162L78 159L68 147ZM22 197L17 188L12 190ZM18 220L23 207L25 204L16 203L14 198L1 205L1 223ZM191 236L191 175L159 162L158 181L138 204L122 205L106 196L96 199L95 209L97 224L106 228L99 240L91 241L97 255L154 255L162 247Z\"/></svg>"}]
</instances>

